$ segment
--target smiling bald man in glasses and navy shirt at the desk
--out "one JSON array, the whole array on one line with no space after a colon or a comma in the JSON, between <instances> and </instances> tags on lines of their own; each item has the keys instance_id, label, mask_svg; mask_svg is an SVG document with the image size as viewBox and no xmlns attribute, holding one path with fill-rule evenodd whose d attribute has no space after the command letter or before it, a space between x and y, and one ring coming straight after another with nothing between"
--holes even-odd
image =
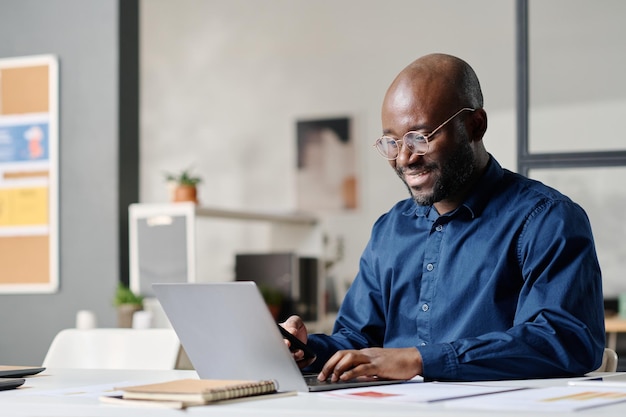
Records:
<instances>
[{"instance_id":1,"label":"smiling bald man in glasses and navy shirt at the desk","mask_svg":"<svg viewBox=\"0 0 626 417\"><path fill-rule=\"evenodd\" d=\"M603 297L587 216L487 153L472 68L443 54L417 59L389 87L382 126L375 145L411 198L375 223L332 335L307 340L299 317L283 323L317 352L310 369L332 380L596 369Z\"/></svg>"}]
</instances>

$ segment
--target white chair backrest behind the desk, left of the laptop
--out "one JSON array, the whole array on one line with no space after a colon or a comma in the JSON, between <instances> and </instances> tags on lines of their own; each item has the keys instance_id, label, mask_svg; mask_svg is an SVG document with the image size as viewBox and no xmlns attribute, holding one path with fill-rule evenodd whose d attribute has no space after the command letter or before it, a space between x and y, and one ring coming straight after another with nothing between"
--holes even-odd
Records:
<instances>
[{"instance_id":1,"label":"white chair backrest behind the desk, left of the laptop","mask_svg":"<svg viewBox=\"0 0 626 417\"><path fill-rule=\"evenodd\" d=\"M173 329L64 329L43 361L47 368L175 369L180 341Z\"/></svg>"}]
</instances>

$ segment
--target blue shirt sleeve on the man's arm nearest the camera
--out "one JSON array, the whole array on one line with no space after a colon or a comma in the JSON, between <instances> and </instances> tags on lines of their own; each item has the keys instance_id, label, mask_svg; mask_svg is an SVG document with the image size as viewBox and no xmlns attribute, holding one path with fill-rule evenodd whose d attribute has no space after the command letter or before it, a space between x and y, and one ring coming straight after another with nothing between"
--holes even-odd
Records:
<instances>
[{"instance_id":1,"label":"blue shirt sleeve on the man's arm nearest the camera","mask_svg":"<svg viewBox=\"0 0 626 417\"><path fill-rule=\"evenodd\" d=\"M548 200L517 242L524 284L513 326L419 346L423 376L486 380L582 375L600 366L605 343L600 267L586 214Z\"/></svg>"}]
</instances>

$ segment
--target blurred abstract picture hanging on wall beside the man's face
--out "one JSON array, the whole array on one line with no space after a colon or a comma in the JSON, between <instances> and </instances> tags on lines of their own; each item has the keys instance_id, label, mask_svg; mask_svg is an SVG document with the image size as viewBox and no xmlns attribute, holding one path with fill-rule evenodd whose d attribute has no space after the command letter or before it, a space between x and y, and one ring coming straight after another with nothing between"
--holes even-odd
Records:
<instances>
[{"instance_id":1,"label":"blurred abstract picture hanging on wall beside the man's face","mask_svg":"<svg viewBox=\"0 0 626 417\"><path fill-rule=\"evenodd\" d=\"M356 209L356 157L350 119L299 120L296 128L298 209Z\"/></svg>"}]
</instances>

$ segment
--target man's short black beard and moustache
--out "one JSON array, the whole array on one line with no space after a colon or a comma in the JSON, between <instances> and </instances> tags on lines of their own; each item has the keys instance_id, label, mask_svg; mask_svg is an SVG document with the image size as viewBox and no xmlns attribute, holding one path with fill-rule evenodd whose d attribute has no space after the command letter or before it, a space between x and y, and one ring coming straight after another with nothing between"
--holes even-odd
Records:
<instances>
[{"instance_id":1,"label":"man's short black beard and moustache","mask_svg":"<svg viewBox=\"0 0 626 417\"><path fill-rule=\"evenodd\" d=\"M434 172L437 165L434 164L426 168L432 169ZM442 161L440 171L441 175L436 180L432 193L419 195L415 194L406 183L401 170L396 170L396 173L407 186L413 201L420 206L432 206L434 203L452 197L466 187L475 171L474 152L468 138L462 138L456 151Z\"/></svg>"}]
</instances>

